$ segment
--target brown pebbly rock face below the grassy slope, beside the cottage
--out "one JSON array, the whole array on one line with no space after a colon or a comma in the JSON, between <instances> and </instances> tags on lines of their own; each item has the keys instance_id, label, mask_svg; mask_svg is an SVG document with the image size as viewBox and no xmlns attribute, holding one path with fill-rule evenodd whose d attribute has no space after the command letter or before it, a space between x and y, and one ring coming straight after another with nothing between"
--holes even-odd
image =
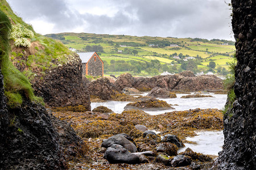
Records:
<instances>
[{"instance_id":1,"label":"brown pebbly rock face below the grassy slope, beside the cottage","mask_svg":"<svg viewBox=\"0 0 256 170\"><path fill-rule=\"evenodd\" d=\"M73 54L68 61L49 71L43 80L36 78L32 82L35 94L42 96L50 107L84 105L90 111L90 96L82 80L81 59Z\"/></svg>"}]
</instances>

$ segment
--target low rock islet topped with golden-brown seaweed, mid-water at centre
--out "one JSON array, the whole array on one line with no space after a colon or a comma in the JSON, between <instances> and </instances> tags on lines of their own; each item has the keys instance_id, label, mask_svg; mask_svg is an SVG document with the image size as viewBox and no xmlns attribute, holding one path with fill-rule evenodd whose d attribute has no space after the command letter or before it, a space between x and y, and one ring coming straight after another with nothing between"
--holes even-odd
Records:
<instances>
[{"instance_id":1,"label":"low rock islet topped with golden-brown seaweed, mid-water at centre","mask_svg":"<svg viewBox=\"0 0 256 170\"><path fill-rule=\"evenodd\" d=\"M134 103L128 103L125 106L125 109L148 109L148 110L165 110L165 109L174 109L168 104L166 101L158 100L155 98L143 100L143 101L136 101Z\"/></svg>"}]
</instances>

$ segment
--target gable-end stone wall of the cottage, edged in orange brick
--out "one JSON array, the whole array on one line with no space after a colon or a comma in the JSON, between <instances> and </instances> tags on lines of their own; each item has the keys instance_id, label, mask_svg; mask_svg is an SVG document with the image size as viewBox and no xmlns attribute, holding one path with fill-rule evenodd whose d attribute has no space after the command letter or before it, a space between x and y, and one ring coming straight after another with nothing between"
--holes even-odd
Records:
<instances>
[{"instance_id":1,"label":"gable-end stone wall of the cottage, edged in orange brick","mask_svg":"<svg viewBox=\"0 0 256 170\"><path fill-rule=\"evenodd\" d=\"M96 58L94 58L96 57ZM88 61L88 75L92 76L102 76L103 73L103 64L101 62L101 59L94 54L94 56Z\"/></svg>"}]
</instances>

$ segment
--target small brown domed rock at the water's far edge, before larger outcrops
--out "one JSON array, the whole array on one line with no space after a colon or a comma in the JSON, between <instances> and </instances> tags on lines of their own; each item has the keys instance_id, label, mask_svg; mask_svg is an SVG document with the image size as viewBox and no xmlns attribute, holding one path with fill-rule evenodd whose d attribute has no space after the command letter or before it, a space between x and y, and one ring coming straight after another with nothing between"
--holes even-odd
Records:
<instances>
[{"instance_id":1,"label":"small brown domed rock at the water's far edge, before larger outcrops","mask_svg":"<svg viewBox=\"0 0 256 170\"><path fill-rule=\"evenodd\" d=\"M149 97L170 97L176 98L177 95L173 92L166 90L166 88L154 87L148 94Z\"/></svg>"}]
</instances>

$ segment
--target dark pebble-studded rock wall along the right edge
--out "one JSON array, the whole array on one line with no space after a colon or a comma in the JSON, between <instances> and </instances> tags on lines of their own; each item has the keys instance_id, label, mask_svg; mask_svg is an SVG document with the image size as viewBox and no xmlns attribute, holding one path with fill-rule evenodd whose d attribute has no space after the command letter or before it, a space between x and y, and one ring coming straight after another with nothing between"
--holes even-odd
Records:
<instances>
[{"instance_id":1,"label":"dark pebble-studded rock wall along the right edge","mask_svg":"<svg viewBox=\"0 0 256 170\"><path fill-rule=\"evenodd\" d=\"M236 40L236 83L232 117L224 116L224 146L219 169L256 167L256 1L232 0Z\"/></svg>"}]
</instances>

